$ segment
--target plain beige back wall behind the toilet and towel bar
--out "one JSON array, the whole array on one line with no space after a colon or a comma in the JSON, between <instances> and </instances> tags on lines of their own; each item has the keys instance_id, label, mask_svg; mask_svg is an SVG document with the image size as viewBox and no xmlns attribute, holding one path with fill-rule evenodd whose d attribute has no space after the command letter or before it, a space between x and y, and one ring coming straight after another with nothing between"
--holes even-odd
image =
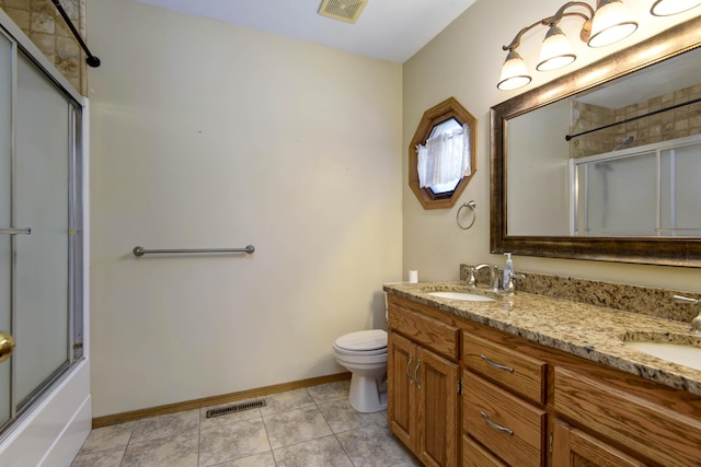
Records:
<instances>
[{"instance_id":1,"label":"plain beige back wall behind the toilet and towel bar","mask_svg":"<svg viewBox=\"0 0 701 467\"><path fill-rule=\"evenodd\" d=\"M402 275L401 66L88 8L93 415L343 372L333 340L386 326Z\"/></svg>"}]
</instances>

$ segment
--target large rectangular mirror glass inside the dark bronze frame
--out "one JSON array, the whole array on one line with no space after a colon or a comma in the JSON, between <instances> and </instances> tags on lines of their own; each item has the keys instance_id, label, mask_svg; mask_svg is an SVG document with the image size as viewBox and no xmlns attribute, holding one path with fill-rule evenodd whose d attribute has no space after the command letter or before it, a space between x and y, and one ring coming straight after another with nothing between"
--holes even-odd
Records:
<instances>
[{"instance_id":1,"label":"large rectangular mirror glass inside the dark bronze frame","mask_svg":"<svg viewBox=\"0 0 701 467\"><path fill-rule=\"evenodd\" d=\"M507 153L509 235L701 235L701 49L510 119Z\"/></svg>"}]
</instances>

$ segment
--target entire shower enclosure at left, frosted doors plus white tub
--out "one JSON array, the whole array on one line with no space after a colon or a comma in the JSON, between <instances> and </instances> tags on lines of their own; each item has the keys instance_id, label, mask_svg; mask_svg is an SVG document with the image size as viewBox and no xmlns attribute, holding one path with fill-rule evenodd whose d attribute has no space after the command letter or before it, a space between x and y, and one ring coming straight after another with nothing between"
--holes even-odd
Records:
<instances>
[{"instance_id":1,"label":"entire shower enclosure at left, frosted doors plus white tub","mask_svg":"<svg viewBox=\"0 0 701 467\"><path fill-rule=\"evenodd\" d=\"M80 94L2 14L0 331L15 347L0 349L9 354L0 362L0 465L60 465L80 437L74 432L89 430L85 109ZM83 428L76 430L71 423L78 422ZM74 439L67 445L62 436Z\"/></svg>"}]
</instances>

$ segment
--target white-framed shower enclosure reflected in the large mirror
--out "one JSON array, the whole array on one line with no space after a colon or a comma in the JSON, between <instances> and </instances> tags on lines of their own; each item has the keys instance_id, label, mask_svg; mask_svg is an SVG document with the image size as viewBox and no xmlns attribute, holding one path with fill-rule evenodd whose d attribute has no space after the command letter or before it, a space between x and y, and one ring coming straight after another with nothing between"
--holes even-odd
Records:
<instances>
[{"instance_id":1,"label":"white-framed shower enclosure reflected in the large mirror","mask_svg":"<svg viewBox=\"0 0 701 467\"><path fill-rule=\"evenodd\" d=\"M701 136L570 161L575 235L701 234Z\"/></svg>"}]
</instances>

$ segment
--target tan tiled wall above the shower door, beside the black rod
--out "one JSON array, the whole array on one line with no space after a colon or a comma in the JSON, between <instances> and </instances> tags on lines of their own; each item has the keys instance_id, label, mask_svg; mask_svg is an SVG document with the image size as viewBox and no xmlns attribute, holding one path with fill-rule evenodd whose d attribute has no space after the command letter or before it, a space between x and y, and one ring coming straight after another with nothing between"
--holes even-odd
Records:
<instances>
[{"instance_id":1,"label":"tan tiled wall above the shower door, beside the black rod","mask_svg":"<svg viewBox=\"0 0 701 467\"><path fill-rule=\"evenodd\" d=\"M85 37L85 0L60 0ZM82 95L87 95L85 59L80 44L50 0L0 0L10 16ZM91 50L92 51L92 50Z\"/></svg>"}]
</instances>

